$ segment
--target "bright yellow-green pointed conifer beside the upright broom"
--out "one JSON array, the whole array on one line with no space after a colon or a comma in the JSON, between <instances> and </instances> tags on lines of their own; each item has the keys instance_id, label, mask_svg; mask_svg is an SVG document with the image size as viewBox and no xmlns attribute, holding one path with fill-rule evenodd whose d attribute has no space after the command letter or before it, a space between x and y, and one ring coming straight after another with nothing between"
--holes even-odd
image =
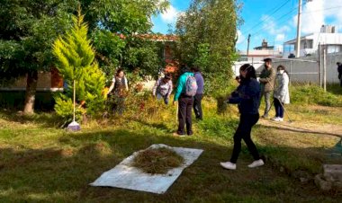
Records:
<instances>
[{"instance_id":1,"label":"bright yellow-green pointed conifer beside the upright broom","mask_svg":"<svg viewBox=\"0 0 342 203\"><path fill-rule=\"evenodd\" d=\"M96 61L94 61L94 49L91 40L88 40L88 27L84 22L84 16L78 12L78 16L72 17L74 27L67 31L65 37L59 37L53 45L53 53L57 57L57 68L63 76L68 87L73 87L76 81L76 101L85 101L87 111L94 114L103 109L103 88L105 78ZM67 103L71 102L73 88L67 88ZM64 96L58 96L65 98ZM56 100L56 110L61 114L60 105L65 101ZM63 112L63 115L65 112ZM69 111L72 115L72 109Z\"/></svg>"}]
</instances>

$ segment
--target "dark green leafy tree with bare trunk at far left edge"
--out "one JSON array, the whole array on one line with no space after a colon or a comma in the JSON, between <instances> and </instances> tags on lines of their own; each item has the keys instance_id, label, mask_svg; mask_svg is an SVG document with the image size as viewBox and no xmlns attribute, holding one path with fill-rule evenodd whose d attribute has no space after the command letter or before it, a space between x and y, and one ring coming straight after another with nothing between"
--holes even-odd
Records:
<instances>
[{"instance_id":1,"label":"dark green leafy tree with bare trunk at far left edge","mask_svg":"<svg viewBox=\"0 0 342 203\"><path fill-rule=\"evenodd\" d=\"M24 113L33 113L38 72L49 71L51 44L70 25L73 1L1 0L0 77L27 75Z\"/></svg>"}]
</instances>

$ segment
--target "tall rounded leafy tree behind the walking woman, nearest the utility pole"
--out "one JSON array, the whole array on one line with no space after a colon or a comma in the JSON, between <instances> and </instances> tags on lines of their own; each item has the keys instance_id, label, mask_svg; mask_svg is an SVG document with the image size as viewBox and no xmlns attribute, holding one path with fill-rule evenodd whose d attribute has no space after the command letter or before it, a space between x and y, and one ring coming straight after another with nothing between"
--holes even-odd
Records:
<instances>
[{"instance_id":1,"label":"tall rounded leafy tree behind the walking woman, nearest the utility pole","mask_svg":"<svg viewBox=\"0 0 342 203\"><path fill-rule=\"evenodd\" d=\"M210 93L227 85L232 75L239 4L234 0L192 0L176 22L180 61L200 66Z\"/></svg>"}]
</instances>

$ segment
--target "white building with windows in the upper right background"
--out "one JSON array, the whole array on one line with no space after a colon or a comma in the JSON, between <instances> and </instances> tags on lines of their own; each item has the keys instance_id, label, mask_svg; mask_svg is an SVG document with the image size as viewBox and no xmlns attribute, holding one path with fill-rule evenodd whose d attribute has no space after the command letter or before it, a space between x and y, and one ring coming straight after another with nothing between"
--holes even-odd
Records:
<instances>
[{"instance_id":1,"label":"white building with windows in the upper right background","mask_svg":"<svg viewBox=\"0 0 342 203\"><path fill-rule=\"evenodd\" d=\"M286 41L284 45L291 46L292 48L287 54L295 53L296 39ZM337 53L342 51L342 33L336 33L335 26L322 25L320 32L302 36L300 57L318 54L319 45L327 46L328 53Z\"/></svg>"}]
</instances>

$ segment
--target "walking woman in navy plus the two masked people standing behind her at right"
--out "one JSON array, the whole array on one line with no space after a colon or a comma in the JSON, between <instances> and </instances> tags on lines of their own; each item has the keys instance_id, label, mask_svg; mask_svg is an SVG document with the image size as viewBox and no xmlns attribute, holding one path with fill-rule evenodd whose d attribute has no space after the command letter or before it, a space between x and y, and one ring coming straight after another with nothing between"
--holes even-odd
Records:
<instances>
[{"instance_id":1,"label":"walking woman in navy plus the two masked people standing behind her at right","mask_svg":"<svg viewBox=\"0 0 342 203\"><path fill-rule=\"evenodd\" d=\"M252 154L254 162L248 165L249 168L255 168L264 165L264 161L257 152L257 146L251 139L251 130L257 124L259 119L259 106L262 97L265 97L266 109L262 118L268 118L268 112L271 109L271 94L274 92L275 121L284 120L284 103L290 102L289 93L289 75L285 67L277 66L277 73L272 67L272 59L266 58L264 68L260 77L256 75L254 66L245 64L239 69L239 76L236 78L239 85L236 91L230 94L229 103L237 103L240 113L238 129L234 134L234 146L230 160L220 163L220 165L229 170L237 168L238 154L241 151L241 141L245 141L248 151Z\"/></svg>"}]
</instances>

